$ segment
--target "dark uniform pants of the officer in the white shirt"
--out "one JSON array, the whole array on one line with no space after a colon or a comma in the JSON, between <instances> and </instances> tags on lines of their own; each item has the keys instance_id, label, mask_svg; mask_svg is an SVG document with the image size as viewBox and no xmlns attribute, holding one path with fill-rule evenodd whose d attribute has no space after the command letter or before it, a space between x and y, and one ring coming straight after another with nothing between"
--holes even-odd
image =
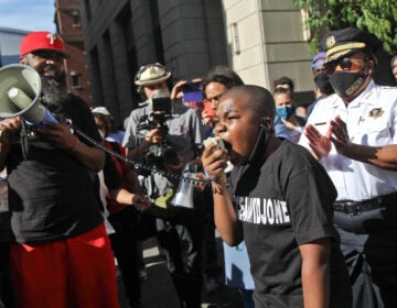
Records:
<instances>
[{"instance_id":1,"label":"dark uniform pants of the officer in the white shirt","mask_svg":"<svg viewBox=\"0 0 397 308\"><path fill-rule=\"evenodd\" d=\"M351 216L334 212L353 289L354 308L397 302L397 204Z\"/></svg>"}]
</instances>

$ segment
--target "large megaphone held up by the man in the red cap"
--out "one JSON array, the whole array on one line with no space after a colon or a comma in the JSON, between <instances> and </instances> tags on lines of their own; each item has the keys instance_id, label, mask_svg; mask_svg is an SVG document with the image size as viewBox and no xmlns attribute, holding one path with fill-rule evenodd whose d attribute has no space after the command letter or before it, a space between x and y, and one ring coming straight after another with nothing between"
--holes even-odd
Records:
<instances>
[{"instance_id":1,"label":"large megaphone held up by the man in the red cap","mask_svg":"<svg viewBox=\"0 0 397 308\"><path fill-rule=\"evenodd\" d=\"M41 78L37 72L23 64L0 68L0 118L22 116L29 124L43 121L57 123L54 116L40 102Z\"/></svg>"}]
</instances>

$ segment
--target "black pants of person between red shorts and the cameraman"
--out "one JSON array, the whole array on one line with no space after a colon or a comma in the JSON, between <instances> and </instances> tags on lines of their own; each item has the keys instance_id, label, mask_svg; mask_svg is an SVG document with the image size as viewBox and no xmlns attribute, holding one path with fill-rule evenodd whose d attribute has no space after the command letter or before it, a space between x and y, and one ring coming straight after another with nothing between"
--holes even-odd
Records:
<instances>
[{"instance_id":1,"label":"black pants of person between red shorts and the cameraman","mask_svg":"<svg viewBox=\"0 0 397 308\"><path fill-rule=\"evenodd\" d=\"M116 230L116 233L110 234L110 242L122 275L126 296L131 307L138 307L141 297L138 211L133 207L127 207L111 215L109 222Z\"/></svg>"}]
</instances>

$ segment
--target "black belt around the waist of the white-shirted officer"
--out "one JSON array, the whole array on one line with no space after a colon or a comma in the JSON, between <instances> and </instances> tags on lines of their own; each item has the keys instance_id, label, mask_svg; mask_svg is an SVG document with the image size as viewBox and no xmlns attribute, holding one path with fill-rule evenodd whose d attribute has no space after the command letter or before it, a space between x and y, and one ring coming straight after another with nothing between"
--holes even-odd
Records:
<instances>
[{"instance_id":1,"label":"black belt around the waist of the white-shirted officer","mask_svg":"<svg viewBox=\"0 0 397 308\"><path fill-rule=\"evenodd\" d=\"M363 201L337 201L333 204L333 209L334 211L356 216L365 211L379 209L391 202L397 202L397 193L379 196Z\"/></svg>"}]
</instances>

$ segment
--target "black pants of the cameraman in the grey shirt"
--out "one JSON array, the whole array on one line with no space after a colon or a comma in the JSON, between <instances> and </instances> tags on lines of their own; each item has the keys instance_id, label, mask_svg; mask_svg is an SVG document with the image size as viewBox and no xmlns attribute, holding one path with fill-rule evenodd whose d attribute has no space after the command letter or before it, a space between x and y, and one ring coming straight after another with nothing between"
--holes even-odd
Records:
<instances>
[{"instance_id":1,"label":"black pants of the cameraman in the grey shirt","mask_svg":"<svg viewBox=\"0 0 397 308\"><path fill-rule=\"evenodd\" d=\"M139 226L142 240L151 235L158 239L181 307L200 308L203 292L202 213L178 208L169 219L143 215Z\"/></svg>"}]
</instances>

